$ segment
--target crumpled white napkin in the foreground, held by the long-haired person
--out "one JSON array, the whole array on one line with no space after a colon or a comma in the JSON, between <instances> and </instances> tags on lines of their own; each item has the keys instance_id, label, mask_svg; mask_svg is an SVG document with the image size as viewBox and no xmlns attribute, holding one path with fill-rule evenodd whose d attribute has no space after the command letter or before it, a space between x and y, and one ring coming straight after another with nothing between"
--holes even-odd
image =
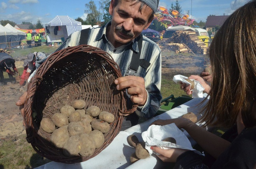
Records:
<instances>
[{"instance_id":1,"label":"crumpled white napkin in the foreground, held by the long-haired person","mask_svg":"<svg viewBox=\"0 0 256 169\"><path fill-rule=\"evenodd\" d=\"M151 146L157 146L165 150L171 148L192 150L195 151L195 153L202 155L201 152L192 148L191 143L186 135L174 123L164 126L151 125L148 127L147 131L143 132L141 135L143 141L145 141L145 148L150 155L153 153L157 154L150 149ZM176 140L176 144L167 141L161 141L167 137L173 137Z\"/></svg>"}]
</instances>

